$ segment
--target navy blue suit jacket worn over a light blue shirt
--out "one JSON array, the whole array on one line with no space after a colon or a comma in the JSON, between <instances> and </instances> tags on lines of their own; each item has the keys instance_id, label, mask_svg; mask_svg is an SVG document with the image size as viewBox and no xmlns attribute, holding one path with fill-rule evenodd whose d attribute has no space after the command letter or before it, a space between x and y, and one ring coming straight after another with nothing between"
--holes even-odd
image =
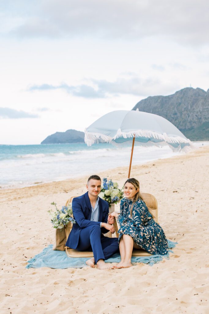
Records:
<instances>
[{"instance_id":1,"label":"navy blue suit jacket worn over a light blue shirt","mask_svg":"<svg viewBox=\"0 0 209 314\"><path fill-rule=\"evenodd\" d=\"M73 224L70 235L67 239L66 246L76 249L78 246L78 241L82 228L98 225L100 222L107 223L109 205L102 198L99 198L99 221L91 221L91 203L88 196L88 192L85 194L76 197L72 202L73 216L76 220L76 223ZM101 228L102 233L108 232L107 229Z\"/></svg>"}]
</instances>

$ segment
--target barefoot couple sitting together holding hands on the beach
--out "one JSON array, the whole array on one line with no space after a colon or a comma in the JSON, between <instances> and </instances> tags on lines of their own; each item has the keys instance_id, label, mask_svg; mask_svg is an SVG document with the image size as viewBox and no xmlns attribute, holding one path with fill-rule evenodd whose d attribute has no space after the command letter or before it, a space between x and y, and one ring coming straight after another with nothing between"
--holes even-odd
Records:
<instances>
[{"instance_id":1,"label":"barefoot couple sitting together holding hands on the beach","mask_svg":"<svg viewBox=\"0 0 209 314\"><path fill-rule=\"evenodd\" d=\"M87 192L73 199L72 210L76 223L73 224L66 246L78 251L93 251L94 257L86 264L98 269L131 267L134 249L143 249L150 254L165 255L168 242L162 228L154 221L139 192L138 180L131 178L124 184L125 198L120 203L120 214L109 214L109 205L98 197L101 190L99 176L90 176ZM115 232L112 224L117 219L118 238L103 234ZM116 266L104 261L118 252L121 262Z\"/></svg>"}]
</instances>

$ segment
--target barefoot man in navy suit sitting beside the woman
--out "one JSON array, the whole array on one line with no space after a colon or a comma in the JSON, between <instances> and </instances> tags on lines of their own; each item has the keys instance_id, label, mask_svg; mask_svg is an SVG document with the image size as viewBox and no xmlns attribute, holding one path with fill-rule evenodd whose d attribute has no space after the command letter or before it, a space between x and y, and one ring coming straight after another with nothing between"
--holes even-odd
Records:
<instances>
[{"instance_id":1,"label":"barefoot man in navy suit sitting beside the woman","mask_svg":"<svg viewBox=\"0 0 209 314\"><path fill-rule=\"evenodd\" d=\"M66 246L78 251L93 251L94 257L86 261L91 267L97 264L98 269L113 268L104 260L118 251L118 239L105 237L102 233L115 232L112 226L115 218L108 216L108 203L98 197L101 191L100 177L90 176L86 188L88 192L73 199L76 223L73 224Z\"/></svg>"}]
</instances>

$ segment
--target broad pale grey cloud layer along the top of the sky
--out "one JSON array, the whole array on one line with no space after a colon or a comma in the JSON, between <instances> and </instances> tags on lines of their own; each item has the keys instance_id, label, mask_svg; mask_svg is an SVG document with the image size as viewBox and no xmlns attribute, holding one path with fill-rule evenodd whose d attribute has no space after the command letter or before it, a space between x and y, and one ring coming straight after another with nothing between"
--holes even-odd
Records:
<instances>
[{"instance_id":1,"label":"broad pale grey cloud layer along the top of the sky","mask_svg":"<svg viewBox=\"0 0 209 314\"><path fill-rule=\"evenodd\" d=\"M10 33L19 37L97 36L140 40L163 36L180 44L209 41L207 0L43 0L13 2L4 13L15 19ZM5 24L9 24L4 21ZM3 28L4 29L4 28Z\"/></svg>"}]
</instances>

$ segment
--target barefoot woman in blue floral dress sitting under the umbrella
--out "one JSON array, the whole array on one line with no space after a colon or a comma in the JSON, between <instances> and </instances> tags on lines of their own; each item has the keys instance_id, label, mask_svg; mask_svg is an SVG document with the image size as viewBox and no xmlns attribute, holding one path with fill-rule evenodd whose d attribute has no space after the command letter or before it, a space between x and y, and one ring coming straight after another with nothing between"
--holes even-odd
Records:
<instances>
[{"instance_id":1,"label":"barefoot woman in blue floral dress sitting under the umbrella","mask_svg":"<svg viewBox=\"0 0 209 314\"><path fill-rule=\"evenodd\" d=\"M124 184L124 194L125 198L120 203L120 214L111 214L119 223L121 262L116 268L132 266L133 248L146 250L150 254L165 255L168 252L168 241L143 201L138 180L128 179Z\"/></svg>"}]
</instances>

